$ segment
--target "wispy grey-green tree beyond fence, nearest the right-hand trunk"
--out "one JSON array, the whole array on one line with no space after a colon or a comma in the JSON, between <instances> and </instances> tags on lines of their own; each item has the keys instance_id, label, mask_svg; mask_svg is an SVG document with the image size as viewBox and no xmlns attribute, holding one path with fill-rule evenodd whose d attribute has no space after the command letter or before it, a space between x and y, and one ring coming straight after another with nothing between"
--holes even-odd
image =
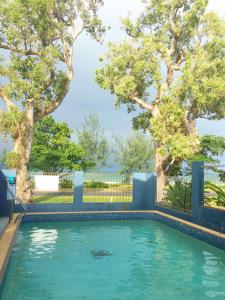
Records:
<instances>
[{"instance_id":1,"label":"wispy grey-green tree beyond fence, nearest the right-hand trunk","mask_svg":"<svg viewBox=\"0 0 225 300\"><path fill-rule=\"evenodd\" d=\"M154 149L149 140L141 132L134 132L126 140L115 136L115 161L127 180L133 172L154 170Z\"/></svg>"}]
</instances>

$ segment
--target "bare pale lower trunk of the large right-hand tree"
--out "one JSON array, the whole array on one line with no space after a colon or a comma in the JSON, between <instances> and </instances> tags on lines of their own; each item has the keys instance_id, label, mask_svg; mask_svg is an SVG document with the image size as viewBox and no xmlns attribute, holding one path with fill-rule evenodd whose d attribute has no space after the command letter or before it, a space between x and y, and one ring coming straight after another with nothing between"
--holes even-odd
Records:
<instances>
[{"instance_id":1,"label":"bare pale lower trunk of the large right-hand tree","mask_svg":"<svg viewBox=\"0 0 225 300\"><path fill-rule=\"evenodd\" d=\"M157 202L161 202L164 198L165 187L167 185L167 176L164 171L164 157L159 153L156 148L156 174L157 174Z\"/></svg>"}]
</instances>

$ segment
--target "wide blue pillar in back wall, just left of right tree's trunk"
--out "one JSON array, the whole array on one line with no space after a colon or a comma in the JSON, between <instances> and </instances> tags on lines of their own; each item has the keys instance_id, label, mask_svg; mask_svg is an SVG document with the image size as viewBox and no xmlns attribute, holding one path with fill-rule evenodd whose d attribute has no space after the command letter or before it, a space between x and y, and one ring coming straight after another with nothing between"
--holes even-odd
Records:
<instances>
[{"instance_id":1,"label":"wide blue pillar in back wall, just left of right tree's trunk","mask_svg":"<svg viewBox=\"0 0 225 300\"><path fill-rule=\"evenodd\" d=\"M134 173L132 209L154 209L155 197L156 175L153 173Z\"/></svg>"}]
</instances>

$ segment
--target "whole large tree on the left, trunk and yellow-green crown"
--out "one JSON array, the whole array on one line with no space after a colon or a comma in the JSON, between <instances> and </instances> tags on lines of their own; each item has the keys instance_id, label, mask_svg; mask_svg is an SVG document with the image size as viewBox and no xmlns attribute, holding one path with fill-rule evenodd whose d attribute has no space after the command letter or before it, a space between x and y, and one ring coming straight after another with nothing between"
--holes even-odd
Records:
<instances>
[{"instance_id":1,"label":"whole large tree on the left, trunk and yellow-green crown","mask_svg":"<svg viewBox=\"0 0 225 300\"><path fill-rule=\"evenodd\" d=\"M73 45L86 31L99 40L102 0L0 1L0 131L11 136L17 196L29 201L27 167L35 122L54 112L73 78ZM4 50L4 51L3 51Z\"/></svg>"}]
</instances>

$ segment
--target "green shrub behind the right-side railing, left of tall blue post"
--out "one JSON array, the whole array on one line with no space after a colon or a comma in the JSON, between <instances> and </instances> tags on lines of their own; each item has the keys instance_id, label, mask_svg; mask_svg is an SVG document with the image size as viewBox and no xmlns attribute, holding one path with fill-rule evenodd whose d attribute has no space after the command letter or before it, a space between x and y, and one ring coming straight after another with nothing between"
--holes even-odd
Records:
<instances>
[{"instance_id":1,"label":"green shrub behind the right-side railing, left of tall blue post","mask_svg":"<svg viewBox=\"0 0 225 300\"><path fill-rule=\"evenodd\" d=\"M177 179L166 187L164 201L170 207L188 211L191 209L191 197L191 183Z\"/></svg>"}]
</instances>

